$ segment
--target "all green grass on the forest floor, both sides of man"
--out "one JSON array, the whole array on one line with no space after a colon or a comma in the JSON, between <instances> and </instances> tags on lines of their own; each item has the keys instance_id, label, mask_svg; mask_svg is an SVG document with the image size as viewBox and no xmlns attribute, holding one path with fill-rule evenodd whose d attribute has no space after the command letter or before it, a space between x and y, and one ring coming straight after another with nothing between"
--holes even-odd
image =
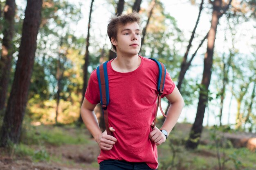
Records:
<instances>
[{"instance_id":1,"label":"all green grass on the forest floor, both sides of man","mask_svg":"<svg viewBox=\"0 0 256 170\"><path fill-rule=\"evenodd\" d=\"M70 160L62 161L62 155L50 155L45 149L50 146L65 144L90 144L90 134L83 128L74 126L24 126L21 142L12 146L12 155L16 157L30 157L32 161L51 161L65 165L73 165ZM176 128L172 131L166 142L158 148L158 170L219 170L218 158L214 142L199 145L196 150L187 150L184 147L187 131ZM225 145L224 145L225 146ZM220 161L225 162L225 170L255 170L256 153L247 148L219 148ZM99 167L97 160L90 167Z\"/></svg>"}]
</instances>

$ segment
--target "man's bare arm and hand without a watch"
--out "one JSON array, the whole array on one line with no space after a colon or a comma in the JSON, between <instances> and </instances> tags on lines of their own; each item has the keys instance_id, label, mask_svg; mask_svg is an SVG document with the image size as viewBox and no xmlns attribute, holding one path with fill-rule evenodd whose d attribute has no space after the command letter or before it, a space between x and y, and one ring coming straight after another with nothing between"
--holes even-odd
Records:
<instances>
[{"instance_id":1,"label":"man's bare arm and hand without a watch","mask_svg":"<svg viewBox=\"0 0 256 170\"><path fill-rule=\"evenodd\" d=\"M96 105L90 103L86 98L84 98L82 106L81 106L81 117L87 129L90 131L99 147L103 150L112 149L117 139L107 134L106 131L103 133L99 128L99 123L97 121L96 115L93 113ZM114 132L115 129L110 127L110 131Z\"/></svg>"}]
</instances>

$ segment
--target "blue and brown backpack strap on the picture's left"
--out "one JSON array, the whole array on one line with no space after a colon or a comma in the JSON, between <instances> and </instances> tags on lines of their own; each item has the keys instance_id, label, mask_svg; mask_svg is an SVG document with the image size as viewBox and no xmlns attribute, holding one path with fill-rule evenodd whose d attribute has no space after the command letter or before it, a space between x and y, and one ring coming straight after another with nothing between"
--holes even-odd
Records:
<instances>
[{"instance_id":1,"label":"blue and brown backpack strap on the picture's left","mask_svg":"<svg viewBox=\"0 0 256 170\"><path fill-rule=\"evenodd\" d=\"M108 135L112 135L109 129L108 124L108 102L109 102L109 90L108 90L108 71L107 71L107 63L99 65L97 67L97 77L99 82L99 90L101 97L101 107L104 114L104 121L106 126L106 131Z\"/></svg>"}]
</instances>

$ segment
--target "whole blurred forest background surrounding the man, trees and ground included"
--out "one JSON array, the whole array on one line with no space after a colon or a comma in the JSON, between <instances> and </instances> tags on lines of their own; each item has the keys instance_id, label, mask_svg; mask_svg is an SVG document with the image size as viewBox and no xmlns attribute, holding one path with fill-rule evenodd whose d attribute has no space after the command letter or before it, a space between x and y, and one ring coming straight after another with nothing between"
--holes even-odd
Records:
<instances>
[{"instance_id":1,"label":"whole blurred forest background surrounding the man, trees and ground included","mask_svg":"<svg viewBox=\"0 0 256 170\"><path fill-rule=\"evenodd\" d=\"M116 57L110 17L132 11L139 55L164 63L185 102L158 170L256 169L256 0L1 0L1 170L99 169L81 103Z\"/></svg>"}]
</instances>

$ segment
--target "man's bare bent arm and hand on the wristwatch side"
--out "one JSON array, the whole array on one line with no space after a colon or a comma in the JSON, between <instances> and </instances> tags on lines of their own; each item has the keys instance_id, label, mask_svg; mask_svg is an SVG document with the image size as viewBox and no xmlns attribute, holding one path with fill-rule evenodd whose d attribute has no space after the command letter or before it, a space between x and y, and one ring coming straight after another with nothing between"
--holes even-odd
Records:
<instances>
[{"instance_id":1,"label":"man's bare bent arm and hand on the wristwatch side","mask_svg":"<svg viewBox=\"0 0 256 170\"><path fill-rule=\"evenodd\" d=\"M169 133L177 123L178 118L180 117L180 113L182 111L182 108L184 107L184 100L176 86L171 94L166 95L166 98L171 103L171 106L167 111L167 117L161 127L161 130L166 130L169 135ZM160 145L166 140L164 134L156 126L150 132L149 138L151 139L151 141L155 142L156 145Z\"/></svg>"}]
</instances>

